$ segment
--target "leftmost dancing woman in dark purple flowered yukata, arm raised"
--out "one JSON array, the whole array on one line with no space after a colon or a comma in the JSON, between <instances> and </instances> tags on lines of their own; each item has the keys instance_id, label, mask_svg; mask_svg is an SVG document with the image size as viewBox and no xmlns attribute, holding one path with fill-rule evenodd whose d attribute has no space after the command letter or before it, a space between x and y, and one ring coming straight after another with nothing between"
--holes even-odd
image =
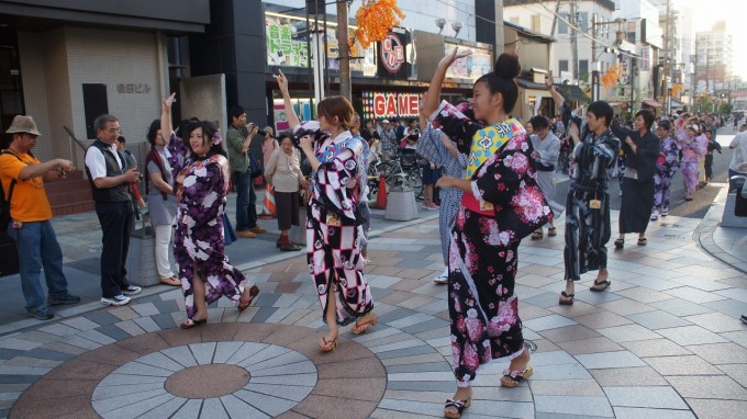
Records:
<instances>
[{"instance_id":1,"label":"leftmost dancing woman in dark purple flowered yukata, arm raised","mask_svg":"<svg viewBox=\"0 0 747 419\"><path fill-rule=\"evenodd\" d=\"M208 321L208 305L222 295L243 312L259 288L232 267L224 253L223 214L231 173L221 134L211 122L193 121L186 131L188 147L171 129L175 95L161 103L160 132L170 134L169 165L177 186L174 258L187 307L187 319L180 326L189 329Z\"/></svg>"}]
</instances>

